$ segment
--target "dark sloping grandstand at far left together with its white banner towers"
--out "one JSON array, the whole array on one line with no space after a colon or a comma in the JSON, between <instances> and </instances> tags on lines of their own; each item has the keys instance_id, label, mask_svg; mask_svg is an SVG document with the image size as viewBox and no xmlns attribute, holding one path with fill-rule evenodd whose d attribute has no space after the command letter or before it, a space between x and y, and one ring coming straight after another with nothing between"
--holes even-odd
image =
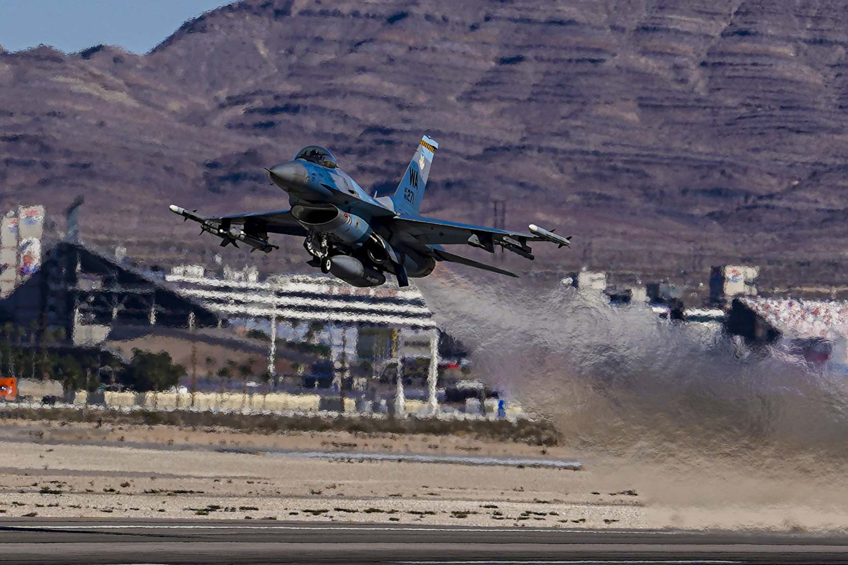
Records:
<instances>
[{"instance_id":1,"label":"dark sloping grandstand at far left together with its white banner towers","mask_svg":"<svg viewBox=\"0 0 848 565\"><path fill-rule=\"evenodd\" d=\"M68 214L78 230L77 210ZM61 332L65 346L98 346L125 327L219 326L223 319L184 297L165 281L78 239L43 250L43 206L21 206L0 221L0 318L36 328L51 341Z\"/></svg>"}]
</instances>

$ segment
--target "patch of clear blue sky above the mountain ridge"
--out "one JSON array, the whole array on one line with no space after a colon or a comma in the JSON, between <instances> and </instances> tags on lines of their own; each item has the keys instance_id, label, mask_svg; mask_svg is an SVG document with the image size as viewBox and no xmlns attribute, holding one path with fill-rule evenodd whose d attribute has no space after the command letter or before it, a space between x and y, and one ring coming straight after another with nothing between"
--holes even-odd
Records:
<instances>
[{"instance_id":1,"label":"patch of clear blue sky above the mountain ridge","mask_svg":"<svg viewBox=\"0 0 848 565\"><path fill-rule=\"evenodd\" d=\"M182 22L222 0L0 0L0 45L40 43L74 53L98 43L147 53Z\"/></svg>"}]
</instances>

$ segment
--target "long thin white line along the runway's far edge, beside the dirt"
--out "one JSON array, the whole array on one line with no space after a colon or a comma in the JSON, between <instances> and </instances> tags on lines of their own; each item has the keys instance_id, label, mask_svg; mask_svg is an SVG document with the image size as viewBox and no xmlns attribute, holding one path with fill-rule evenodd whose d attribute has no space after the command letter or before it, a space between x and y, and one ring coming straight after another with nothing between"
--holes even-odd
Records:
<instances>
[{"instance_id":1,"label":"long thin white line along the runway's far edge, beside the dirt","mask_svg":"<svg viewBox=\"0 0 848 565\"><path fill-rule=\"evenodd\" d=\"M531 532L533 534L629 534L629 535L674 535L677 532L657 531L657 530L605 530L605 529L559 529L559 528L404 528L392 526L225 526L225 525L204 525L204 524L170 524L170 525L154 525L154 524L114 524L107 523L95 525L85 524L75 526L67 525L5 525L0 524L2 529L293 529L307 531L345 531L352 532L478 532L485 534L491 532L493 534L501 534L505 532Z\"/></svg>"}]
</instances>

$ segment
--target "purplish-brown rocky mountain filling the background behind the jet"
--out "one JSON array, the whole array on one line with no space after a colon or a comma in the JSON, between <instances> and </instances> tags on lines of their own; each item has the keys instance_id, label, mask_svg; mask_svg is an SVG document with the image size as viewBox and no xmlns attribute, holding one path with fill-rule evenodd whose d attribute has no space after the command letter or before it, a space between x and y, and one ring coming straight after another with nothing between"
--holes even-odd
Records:
<instances>
[{"instance_id":1,"label":"purplish-brown rocky mountain filling the background behind the jet","mask_svg":"<svg viewBox=\"0 0 848 565\"><path fill-rule=\"evenodd\" d=\"M391 189L427 132L424 212L575 236L538 269L841 285L846 47L834 0L246 0L145 55L0 51L0 209L83 194L84 240L208 261L167 204L282 208L262 167L311 143Z\"/></svg>"}]
</instances>

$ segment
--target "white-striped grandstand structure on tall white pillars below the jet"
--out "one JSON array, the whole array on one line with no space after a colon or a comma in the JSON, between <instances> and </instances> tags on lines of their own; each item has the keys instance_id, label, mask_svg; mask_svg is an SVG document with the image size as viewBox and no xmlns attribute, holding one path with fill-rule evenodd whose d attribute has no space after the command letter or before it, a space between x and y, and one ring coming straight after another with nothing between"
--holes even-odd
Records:
<instances>
[{"instance_id":1,"label":"white-striped grandstand structure on tall white pillars below the jet","mask_svg":"<svg viewBox=\"0 0 848 565\"><path fill-rule=\"evenodd\" d=\"M404 413L403 357L430 357L427 373L427 410L438 410L436 381L438 377L438 330L424 296L414 286L403 289L393 285L357 288L329 276L304 274L274 275L258 280L255 273L235 272L224 278L204 275L195 266L176 267L165 275L176 293L202 303L221 317L237 321L264 321L269 324L268 370L273 374L276 357L276 335L280 324L288 320L320 321L343 328L381 326L393 332L392 356L397 363L397 390L394 410ZM429 337L429 351L416 351L420 346L404 348L404 335Z\"/></svg>"}]
</instances>

